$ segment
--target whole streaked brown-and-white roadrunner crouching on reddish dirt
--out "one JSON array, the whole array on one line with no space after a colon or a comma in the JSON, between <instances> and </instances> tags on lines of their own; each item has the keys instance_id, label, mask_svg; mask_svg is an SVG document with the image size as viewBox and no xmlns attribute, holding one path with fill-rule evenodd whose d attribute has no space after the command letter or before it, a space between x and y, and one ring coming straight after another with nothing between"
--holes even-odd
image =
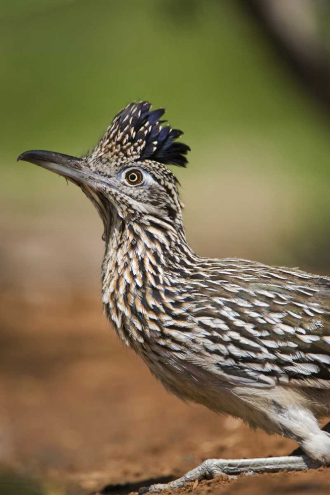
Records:
<instances>
[{"instance_id":1,"label":"whole streaked brown-and-white roadrunner crouching on reddish dirt","mask_svg":"<svg viewBox=\"0 0 330 495\"><path fill-rule=\"evenodd\" d=\"M182 134L131 103L83 158L52 151L18 157L78 185L97 208L106 243L105 314L119 337L176 396L293 439L303 452L209 459L168 485L218 473L330 464L330 278L243 259L198 256L182 223ZM298 455L299 453L299 455Z\"/></svg>"}]
</instances>

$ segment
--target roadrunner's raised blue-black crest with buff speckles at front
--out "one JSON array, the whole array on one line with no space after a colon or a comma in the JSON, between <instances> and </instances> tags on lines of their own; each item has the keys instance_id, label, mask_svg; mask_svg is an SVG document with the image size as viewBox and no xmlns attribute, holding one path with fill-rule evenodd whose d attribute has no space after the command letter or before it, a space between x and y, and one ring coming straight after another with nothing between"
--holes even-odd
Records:
<instances>
[{"instance_id":1,"label":"roadrunner's raised blue-black crest with buff speckles at front","mask_svg":"<svg viewBox=\"0 0 330 495\"><path fill-rule=\"evenodd\" d=\"M175 140L183 132L162 124L160 120L165 109L150 111L147 101L130 103L112 120L105 136L101 139L94 156L101 159L130 158L133 160L153 160L159 163L185 167L185 155L189 146Z\"/></svg>"}]
</instances>

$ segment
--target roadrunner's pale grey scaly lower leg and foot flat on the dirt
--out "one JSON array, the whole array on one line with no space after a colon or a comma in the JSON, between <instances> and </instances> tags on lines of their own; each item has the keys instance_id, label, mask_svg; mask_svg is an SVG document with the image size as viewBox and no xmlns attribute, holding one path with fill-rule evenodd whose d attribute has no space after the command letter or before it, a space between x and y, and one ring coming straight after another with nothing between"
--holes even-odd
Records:
<instances>
[{"instance_id":1,"label":"roadrunner's pale grey scaly lower leg and foot flat on the dirt","mask_svg":"<svg viewBox=\"0 0 330 495\"><path fill-rule=\"evenodd\" d=\"M142 493L156 493L165 489L173 490L175 488L181 488L191 481L212 479L218 474L235 476L242 473L270 473L284 469L287 471L302 471L306 468L317 469L320 466L320 462L311 460L307 455L287 455L257 459L207 459L199 466L181 476L181 478L166 484L152 485L143 490Z\"/></svg>"}]
</instances>

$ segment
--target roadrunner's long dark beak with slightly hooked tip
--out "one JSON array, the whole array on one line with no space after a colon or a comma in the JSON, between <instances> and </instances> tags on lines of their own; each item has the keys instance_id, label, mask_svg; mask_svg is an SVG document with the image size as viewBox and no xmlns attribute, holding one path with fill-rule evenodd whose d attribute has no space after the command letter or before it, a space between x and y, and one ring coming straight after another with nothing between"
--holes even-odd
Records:
<instances>
[{"instance_id":1,"label":"roadrunner's long dark beak with slightly hooked tip","mask_svg":"<svg viewBox=\"0 0 330 495\"><path fill-rule=\"evenodd\" d=\"M56 153L55 151L32 149L20 154L17 161L21 160L51 170L55 174L72 180L74 183L91 185L92 177L83 166L83 160L81 158Z\"/></svg>"}]
</instances>

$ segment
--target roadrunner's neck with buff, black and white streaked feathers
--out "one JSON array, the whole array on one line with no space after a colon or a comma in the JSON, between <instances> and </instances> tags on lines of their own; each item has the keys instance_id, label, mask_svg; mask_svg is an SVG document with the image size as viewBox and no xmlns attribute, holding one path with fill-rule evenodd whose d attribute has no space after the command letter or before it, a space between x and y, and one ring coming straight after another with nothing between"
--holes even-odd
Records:
<instances>
[{"instance_id":1,"label":"roadrunner's neck with buff, black and white streaked feathers","mask_svg":"<svg viewBox=\"0 0 330 495\"><path fill-rule=\"evenodd\" d=\"M148 216L130 222L113 219L102 267L103 304L126 344L142 338L139 325L149 325L146 306L152 313L163 304L173 277L180 275L182 260L193 256L182 225ZM130 333L133 320L136 338Z\"/></svg>"}]
</instances>

